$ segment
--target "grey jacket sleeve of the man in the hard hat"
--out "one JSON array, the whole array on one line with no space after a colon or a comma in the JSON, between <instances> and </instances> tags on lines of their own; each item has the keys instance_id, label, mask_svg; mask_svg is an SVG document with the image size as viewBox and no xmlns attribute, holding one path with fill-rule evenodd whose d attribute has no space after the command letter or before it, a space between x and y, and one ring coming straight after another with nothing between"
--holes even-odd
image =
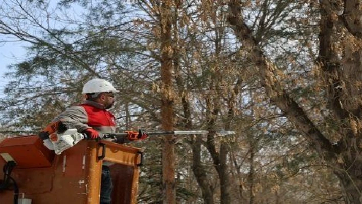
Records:
<instances>
[{"instance_id":1,"label":"grey jacket sleeve of the man in the hard hat","mask_svg":"<svg viewBox=\"0 0 362 204\"><path fill-rule=\"evenodd\" d=\"M87 125L87 112L82 106L71 106L67 108L64 112L55 117L52 122L58 120L63 121L63 123L70 128L76 128L78 132L83 132L85 129L90 128Z\"/></svg>"}]
</instances>

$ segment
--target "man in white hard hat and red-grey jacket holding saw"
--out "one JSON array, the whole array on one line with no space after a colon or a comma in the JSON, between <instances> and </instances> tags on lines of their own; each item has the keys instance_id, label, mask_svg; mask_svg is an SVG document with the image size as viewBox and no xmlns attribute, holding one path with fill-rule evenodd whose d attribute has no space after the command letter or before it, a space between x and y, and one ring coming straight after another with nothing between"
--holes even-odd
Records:
<instances>
[{"instance_id":1,"label":"man in white hard hat and red-grey jacket holding saw","mask_svg":"<svg viewBox=\"0 0 362 204\"><path fill-rule=\"evenodd\" d=\"M86 101L83 104L71 106L58 115L53 121L61 120L64 124L74 127L80 133L85 133L88 139L103 137L102 133L116 131L115 116L107 109L115 102L116 90L111 83L104 79L92 79L84 84L82 94ZM125 140L142 140L147 138L146 132L128 132ZM109 166L112 163L103 162L100 203L111 203L112 180Z\"/></svg>"}]
</instances>

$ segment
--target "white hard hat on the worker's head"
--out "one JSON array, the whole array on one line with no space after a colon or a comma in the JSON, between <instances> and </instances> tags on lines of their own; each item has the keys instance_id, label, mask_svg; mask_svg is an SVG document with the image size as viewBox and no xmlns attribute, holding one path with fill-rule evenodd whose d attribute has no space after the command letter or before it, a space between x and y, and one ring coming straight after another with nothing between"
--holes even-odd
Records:
<instances>
[{"instance_id":1,"label":"white hard hat on the worker's head","mask_svg":"<svg viewBox=\"0 0 362 204\"><path fill-rule=\"evenodd\" d=\"M101 93L101 92L119 92L111 83L104 79L92 79L84 84L82 94Z\"/></svg>"}]
</instances>

